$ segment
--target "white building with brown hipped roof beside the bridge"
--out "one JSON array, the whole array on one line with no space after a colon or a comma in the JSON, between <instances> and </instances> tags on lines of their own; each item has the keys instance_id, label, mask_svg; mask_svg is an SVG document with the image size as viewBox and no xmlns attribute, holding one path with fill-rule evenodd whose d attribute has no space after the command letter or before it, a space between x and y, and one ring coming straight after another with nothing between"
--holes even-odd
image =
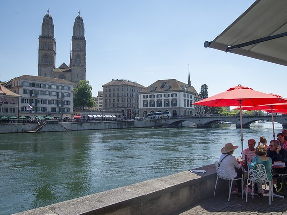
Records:
<instances>
[{"instance_id":1,"label":"white building with brown hipped roof beside the bridge","mask_svg":"<svg viewBox=\"0 0 287 215\"><path fill-rule=\"evenodd\" d=\"M165 111L171 112L174 117L200 114L198 107L191 105L201 99L194 87L176 79L158 80L138 94L140 117Z\"/></svg>"}]
</instances>

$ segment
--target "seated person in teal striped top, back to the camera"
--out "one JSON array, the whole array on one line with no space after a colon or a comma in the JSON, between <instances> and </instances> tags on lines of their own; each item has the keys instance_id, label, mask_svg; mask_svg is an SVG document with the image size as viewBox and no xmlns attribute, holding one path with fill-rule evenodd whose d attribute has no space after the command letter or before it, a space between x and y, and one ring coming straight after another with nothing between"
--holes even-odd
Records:
<instances>
[{"instance_id":1,"label":"seated person in teal striped top, back to the camera","mask_svg":"<svg viewBox=\"0 0 287 215\"><path fill-rule=\"evenodd\" d=\"M265 170L267 173L268 180L272 180L272 160L270 157L266 157L267 149L264 145L259 145L256 148L255 154L257 156L253 157L252 163L248 164L248 167L251 169L255 169L257 164L263 164L265 166ZM258 195L260 197L263 196L262 184L257 183Z\"/></svg>"}]
</instances>

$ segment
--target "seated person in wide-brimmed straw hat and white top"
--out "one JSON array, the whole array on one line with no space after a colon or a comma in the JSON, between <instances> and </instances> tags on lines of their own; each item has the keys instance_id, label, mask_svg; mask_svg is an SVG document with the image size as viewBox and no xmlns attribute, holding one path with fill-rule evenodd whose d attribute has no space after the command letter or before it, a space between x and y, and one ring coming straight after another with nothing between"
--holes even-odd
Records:
<instances>
[{"instance_id":1,"label":"seated person in wide-brimmed straw hat and white top","mask_svg":"<svg viewBox=\"0 0 287 215\"><path fill-rule=\"evenodd\" d=\"M233 151L238 148L238 146L233 146L232 143L227 143L221 149L221 156L219 161L221 162L221 167L225 168L228 175L231 179L237 179L242 177L242 165L243 161L240 164L237 162L235 156L233 156ZM238 196L241 196L242 192L242 184L241 180L236 180L237 187L238 187Z\"/></svg>"}]
</instances>

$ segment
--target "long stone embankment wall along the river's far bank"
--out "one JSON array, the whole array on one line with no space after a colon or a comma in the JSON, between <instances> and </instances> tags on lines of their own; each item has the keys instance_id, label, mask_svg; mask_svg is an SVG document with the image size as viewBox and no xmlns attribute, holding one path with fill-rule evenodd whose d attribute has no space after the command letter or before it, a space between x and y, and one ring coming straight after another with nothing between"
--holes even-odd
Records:
<instances>
[{"instance_id":1,"label":"long stone embankment wall along the river's far bank","mask_svg":"<svg viewBox=\"0 0 287 215\"><path fill-rule=\"evenodd\" d=\"M0 124L1 133L21 132L55 132L74 130L118 129L118 128L144 128L161 127L161 120L126 120L104 122L59 122L47 121L47 123L10 123Z\"/></svg>"}]
</instances>

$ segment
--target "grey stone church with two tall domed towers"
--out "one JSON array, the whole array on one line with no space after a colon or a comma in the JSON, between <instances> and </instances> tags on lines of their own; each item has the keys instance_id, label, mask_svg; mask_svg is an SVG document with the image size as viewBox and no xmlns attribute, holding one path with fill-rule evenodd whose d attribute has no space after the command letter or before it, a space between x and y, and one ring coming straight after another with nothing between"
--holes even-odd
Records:
<instances>
[{"instance_id":1,"label":"grey stone church with two tall domed towers","mask_svg":"<svg viewBox=\"0 0 287 215\"><path fill-rule=\"evenodd\" d=\"M86 40L83 18L75 19L69 66L62 63L59 68L56 62L56 40L54 38L53 18L48 13L43 18L42 35L39 37L38 76L61 78L73 82L86 80Z\"/></svg>"}]
</instances>

